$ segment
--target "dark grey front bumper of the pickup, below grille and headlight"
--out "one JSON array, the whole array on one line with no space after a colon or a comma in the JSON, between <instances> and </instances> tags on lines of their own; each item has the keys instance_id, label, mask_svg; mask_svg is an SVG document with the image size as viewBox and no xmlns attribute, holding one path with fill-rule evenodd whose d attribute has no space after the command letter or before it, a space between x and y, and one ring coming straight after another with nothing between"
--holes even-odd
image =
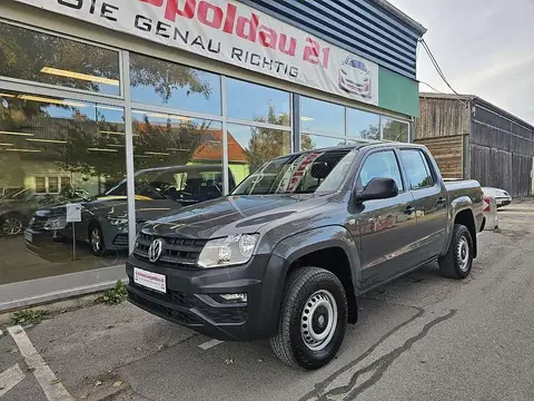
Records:
<instances>
[{"instance_id":1,"label":"dark grey front bumper of the pickup, below grille and headlight","mask_svg":"<svg viewBox=\"0 0 534 401\"><path fill-rule=\"evenodd\" d=\"M178 270L130 256L126 264L128 299L155 315L214 339L266 339L274 335L278 323L284 265L278 256L257 255L243 266ZM167 293L134 283L134 267L165 274ZM246 293L247 303L220 303L210 296L235 293Z\"/></svg>"}]
</instances>

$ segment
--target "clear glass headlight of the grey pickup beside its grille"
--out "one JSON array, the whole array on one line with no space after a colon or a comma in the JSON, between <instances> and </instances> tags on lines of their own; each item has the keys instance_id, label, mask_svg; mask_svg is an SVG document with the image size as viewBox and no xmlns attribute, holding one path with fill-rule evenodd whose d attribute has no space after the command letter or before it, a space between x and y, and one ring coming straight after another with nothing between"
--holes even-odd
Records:
<instances>
[{"instance_id":1,"label":"clear glass headlight of the grey pickup beside its grille","mask_svg":"<svg viewBox=\"0 0 534 401\"><path fill-rule=\"evenodd\" d=\"M198 264L205 268L245 264L253 257L258 237L258 234L239 234L208 241L200 252Z\"/></svg>"}]
</instances>

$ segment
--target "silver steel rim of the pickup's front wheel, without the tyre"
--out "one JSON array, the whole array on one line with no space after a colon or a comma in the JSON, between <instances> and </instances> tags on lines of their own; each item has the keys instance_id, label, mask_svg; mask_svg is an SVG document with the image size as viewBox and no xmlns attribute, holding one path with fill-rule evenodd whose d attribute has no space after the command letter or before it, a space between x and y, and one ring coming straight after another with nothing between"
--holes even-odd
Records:
<instances>
[{"instance_id":1,"label":"silver steel rim of the pickup's front wheel, without the tyre","mask_svg":"<svg viewBox=\"0 0 534 401\"><path fill-rule=\"evenodd\" d=\"M316 291L306 301L300 316L300 334L312 351L320 351L334 338L337 327L337 303L326 290Z\"/></svg>"}]
</instances>

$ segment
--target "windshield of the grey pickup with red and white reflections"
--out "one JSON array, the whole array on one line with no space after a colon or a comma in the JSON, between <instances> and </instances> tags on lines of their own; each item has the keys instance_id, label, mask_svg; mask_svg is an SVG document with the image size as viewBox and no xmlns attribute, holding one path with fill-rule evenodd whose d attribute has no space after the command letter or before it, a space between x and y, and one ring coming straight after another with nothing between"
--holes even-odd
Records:
<instances>
[{"instance_id":1,"label":"windshield of the grey pickup with red and white reflections","mask_svg":"<svg viewBox=\"0 0 534 401\"><path fill-rule=\"evenodd\" d=\"M352 149L313 150L276 158L248 176L231 195L313 194L339 189L356 156Z\"/></svg>"}]
</instances>

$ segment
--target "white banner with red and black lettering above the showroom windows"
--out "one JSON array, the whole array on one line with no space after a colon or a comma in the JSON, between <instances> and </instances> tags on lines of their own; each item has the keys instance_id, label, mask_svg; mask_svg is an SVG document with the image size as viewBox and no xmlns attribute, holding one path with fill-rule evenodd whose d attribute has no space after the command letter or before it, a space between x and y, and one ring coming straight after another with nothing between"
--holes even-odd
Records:
<instances>
[{"instance_id":1,"label":"white banner with red and black lettering above the showroom windows","mask_svg":"<svg viewBox=\"0 0 534 401\"><path fill-rule=\"evenodd\" d=\"M233 0L16 0L349 99L378 104L378 66Z\"/></svg>"}]
</instances>

